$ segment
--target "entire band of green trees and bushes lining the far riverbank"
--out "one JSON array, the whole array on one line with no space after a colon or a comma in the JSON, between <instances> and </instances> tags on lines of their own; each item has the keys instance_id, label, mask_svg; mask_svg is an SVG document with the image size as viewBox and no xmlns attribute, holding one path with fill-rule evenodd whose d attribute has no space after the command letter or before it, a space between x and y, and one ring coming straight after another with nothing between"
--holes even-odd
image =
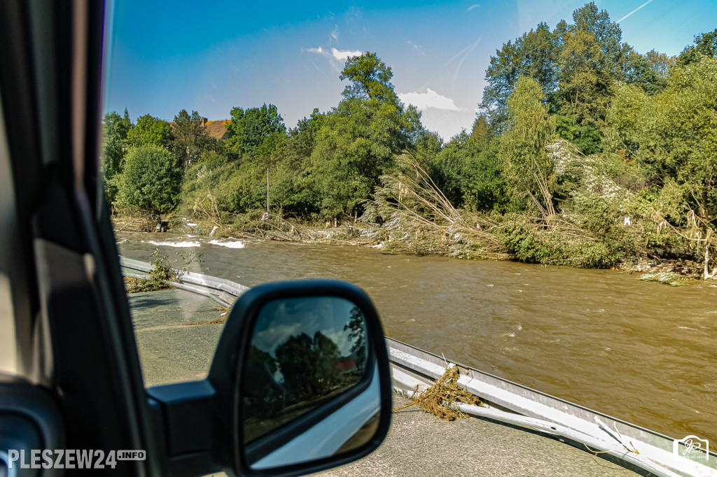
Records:
<instances>
[{"instance_id":1,"label":"entire band of green trees and bushes lining the far riverbank","mask_svg":"<svg viewBox=\"0 0 717 477\"><path fill-rule=\"evenodd\" d=\"M503 44L485 72L482 114L447 143L399 100L391 67L371 52L346 61L336 107L314 109L290 130L267 104L233 108L223 142L206 136L196 111L181 110L171 128L108 112L100 152L108 196L236 223L235 214L266 208L268 170L272 213L315 221L367 209L381 222L391 204L410 203L411 160L431 197L414 197L412 212L463 217L466 237L488 240L492 254L604 267L650 247L692 243L688 254L705 256L707 241L714 256L716 39L717 30L698 35L679 59L639 54L590 2L571 24L541 23ZM438 203L440 213L429 205ZM437 249L432 240L416 235L414 251ZM455 239L450 253L466 256L470 240Z\"/></svg>"}]
</instances>

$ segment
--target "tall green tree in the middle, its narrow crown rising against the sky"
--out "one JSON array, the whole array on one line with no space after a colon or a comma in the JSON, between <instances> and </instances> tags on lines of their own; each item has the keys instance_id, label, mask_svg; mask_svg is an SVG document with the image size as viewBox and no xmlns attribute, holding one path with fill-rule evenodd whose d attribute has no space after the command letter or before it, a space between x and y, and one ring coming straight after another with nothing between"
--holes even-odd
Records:
<instances>
[{"instance_id":1,"label":"tall green tree in the middle, its narrow crown rising against the sky","mask_svg":"<svg viewBox=\"0 0 717 477\"><path fill-rule=\"evenodd\" d=\"M399 101L392 75L375 53L346 61L344 99L323 120L301 183L324 216L361 211L394 155L414 147L420 113Z\"/></svg>"}]
</instances>

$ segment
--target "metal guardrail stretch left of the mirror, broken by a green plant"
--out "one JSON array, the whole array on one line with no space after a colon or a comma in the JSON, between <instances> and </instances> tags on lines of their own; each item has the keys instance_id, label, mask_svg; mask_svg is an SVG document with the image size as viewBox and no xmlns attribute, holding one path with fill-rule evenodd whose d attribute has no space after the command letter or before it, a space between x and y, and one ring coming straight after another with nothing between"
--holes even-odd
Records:
<instances>
[{"instance_id":1,"label":"metal guardrail stretch left of the mirror, broken by a green plant","mask_svg":"<svg viewBox=\"0 0 717 477\"><path fill-rule=\"evenodd\" d=\"M148 279L150 272L154 269L152 264L146 261L128 259L120 256L120 269L124 276L133 276L139 279ZM191 291L204 295L221 304L223 307L231 307L234 301L249 289L248 286L240 285L234 281L198 274L194 271L181 271L174 269L177 281L170 281L168 284L175 288Z\"/></svg>"}]
</instances>

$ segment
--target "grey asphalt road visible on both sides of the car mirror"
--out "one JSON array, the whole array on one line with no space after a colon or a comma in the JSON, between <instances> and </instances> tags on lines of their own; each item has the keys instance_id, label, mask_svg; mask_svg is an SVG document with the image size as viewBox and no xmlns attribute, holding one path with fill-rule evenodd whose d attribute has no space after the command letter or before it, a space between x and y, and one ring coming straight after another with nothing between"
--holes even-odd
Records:
<instances>
[{"instance_id":1,"label":"grey asphalt road visible on both sides of the car mirror","mask_svg":"<svg viewBox=\"0 0 717 477\"><path fill-rule=\"evenodd\" d=\"M222 324L211 299L179 290L130 294L147 386L206 376ZM394 408L407 404L394 397ZM217 474L223 475L223 474ZM371 456L322 476L635 476L592 453L479 418L450 423L410 407Z\"/></svg>"}]
</instances>

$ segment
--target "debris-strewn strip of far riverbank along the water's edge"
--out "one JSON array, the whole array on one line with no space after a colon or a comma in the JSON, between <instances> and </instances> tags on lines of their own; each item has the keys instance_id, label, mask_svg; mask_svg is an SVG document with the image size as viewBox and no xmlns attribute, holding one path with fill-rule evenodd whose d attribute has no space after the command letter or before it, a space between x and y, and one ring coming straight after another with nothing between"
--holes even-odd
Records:
<instances>
[{"instance_id":1,"label":"debris-strewn strip of far riverbank along the water's edge","mask_svg":"<svg viewBox=\"0 0 717 477\"><path fill-rule=\"evenodd\" d=\"M473 217L475 219L475 217ZM316 223L303 223L287 220L280 216L263 216L262 213L247 213L237 216L232 224L217 224L212 221L192 221L184 216L168 216L156 228L148 217L120 215L113 217L115 233L122 231L186 234L190 237L209 236L216 239L234 238L239 240L266 240L280 242L298 242L303 244L325 244L342 246L361 246L381 249L392 253L414 254L417 256L450 256L459 259L488 259L541 263L539 254L552 254L557 258L546 259L547 264L572 266L574 268L609 268L628 274L639 274L645 281L659 281L671 286L683 286L693 281L702 281L704 264L679 251L656 249L643 251L637 256L621 256L620 259L607 261L601 253L604 251L595 244L571 247L561 243L561 238L550 236L550 231L526 230L523 226L516 230L495 233L492 228L498 223L483 221L483 227L477 223L475 228L462 225L452 227L432 227L427 223L409 223L394 219L379 225L363 221L327 221L323 226ZM505 227L505 224L503 224ZM513 235L511 235L513 232ZM536 238L535 236L538 236ZM505 237L511 236L512 244L504 244ZM545 242L541 241L547 240ZM547 238L546 238L547 237ZM526 245L526 242L528 243ZM511 253L513 248L522 247L531 250L529 259ZM573 250L575 249L575 250ZM594 250L594 249L597 249ZM578 251L581 256L574 256ZM591 255L592 254L592 255ZM552 261L551 261L552 260ZM543 263L545 264L545 263ZM592 265L592 266L591 266Z\"/></svg>"}]
</instances>

